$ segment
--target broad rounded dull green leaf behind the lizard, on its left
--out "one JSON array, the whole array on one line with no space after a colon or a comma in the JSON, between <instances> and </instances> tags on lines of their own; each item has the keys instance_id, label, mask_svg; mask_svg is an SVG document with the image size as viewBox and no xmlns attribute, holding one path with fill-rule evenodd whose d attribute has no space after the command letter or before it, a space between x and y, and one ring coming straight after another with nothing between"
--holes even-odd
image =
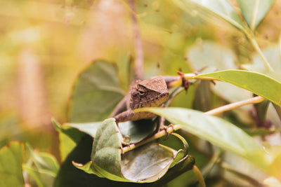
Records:
<instances>
[{"instance_id":1,"label":"broad rounded dull green leaf behind the lizard, on its left","mask_svg":"<svg viewBox=\"0 0 281 187\"><path fill-rule=\"evenodd\" d=\"M74 84L70 121L104 120L123 97L115 66L105 61L93 62L81 72Z\"/></svg>"}]
</instances>

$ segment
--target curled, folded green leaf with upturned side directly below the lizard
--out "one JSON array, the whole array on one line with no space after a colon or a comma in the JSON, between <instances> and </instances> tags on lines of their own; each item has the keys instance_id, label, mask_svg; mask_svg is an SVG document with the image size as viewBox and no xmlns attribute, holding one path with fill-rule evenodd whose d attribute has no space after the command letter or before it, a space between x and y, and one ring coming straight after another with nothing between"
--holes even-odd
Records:
<instances>
[{"instance_id":1,"label":"curled, folded green leaf with upturned side directly below the lizard","mask_svg":"<svg viewBox=\"0 0 281 187\"><path fill-rule=\"evenodd\" d=\"M186 142L183 143L187 149ZM93 142L91 162L74 165L89 174L114 181L152 182L161 178L174 160L185 156L183 150L157 143L147 144L122 153L122 137L114 118L104 120L98 127ZM180 158L181 157L181 158Z\"/></svg>"}]
</instances>

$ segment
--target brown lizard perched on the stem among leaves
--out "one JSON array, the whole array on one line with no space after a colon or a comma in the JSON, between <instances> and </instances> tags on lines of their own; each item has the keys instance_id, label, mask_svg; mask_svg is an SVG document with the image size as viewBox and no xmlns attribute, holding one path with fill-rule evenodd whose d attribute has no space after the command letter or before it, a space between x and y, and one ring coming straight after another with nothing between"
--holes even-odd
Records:
<instances>
[{"instance_id":1,"label":"brown lizard perched on the stem among leaves","mask_svg":"<svg viewBox=\"0 0 281 187\"><path fill-rule=\"evenodd\" d=\"M117 123L127 120L155 118L156 115L153 113L134 113L133 109L162 106L169 99L169 83L176 81L178 78L180 77L155 76L144 81L133 81L130 86L129 95L118 104L111 116L116 119Z\"/></svg>"}]
</instances>

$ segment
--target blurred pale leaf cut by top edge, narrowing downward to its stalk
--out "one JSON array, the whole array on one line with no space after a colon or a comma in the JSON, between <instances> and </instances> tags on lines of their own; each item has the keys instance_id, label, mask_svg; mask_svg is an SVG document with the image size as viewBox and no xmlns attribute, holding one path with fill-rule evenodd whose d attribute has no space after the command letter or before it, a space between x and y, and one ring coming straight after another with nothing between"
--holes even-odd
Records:
<instances>
[{"instance_id":1,"label":"blurred pale leaf cut by top edge, narrowing downward to its stalk","mask_svg":"<svg viewBox=\"0 0 281 187\"><path fill-rule=\"evenodd\" d=\"M266 16L275 0L237 0L242 15L249 27L254 30Z\"/></svg>"}]
</instances>

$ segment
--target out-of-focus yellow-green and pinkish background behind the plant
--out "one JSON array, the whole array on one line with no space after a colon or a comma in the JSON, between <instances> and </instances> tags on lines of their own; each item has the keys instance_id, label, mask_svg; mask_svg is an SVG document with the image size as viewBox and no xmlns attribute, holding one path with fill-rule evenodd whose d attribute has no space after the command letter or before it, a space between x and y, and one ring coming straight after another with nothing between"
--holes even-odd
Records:
<instances>
[{"instance_id":1,"label":"out-of-focus yellow-green and pinkish background behind the plant","mask_svg":"<svg viewBox=\"0 0 281 187\"><path fill-rule=\"evenodd\" d=\"M230 2L237 6L236 1ZM183 12L173 1L136 3L146 78L194 71L201 56L199 53L193 60L192 51L200 52L206 41L231 50L234 57L228 58L232 65L251 61L251 45L227 22L196 10ZM275 1L256 30L261 47L278 41L280 10L281 1ZM133 42L126 1L1 0L0 147L11 140L30 142L59 159L58 134L51 117L67 121L77 74L96 59L116 62L121 86L126 90ZM216 57L223 52L209 53ZM192 95L194 92L189 92L187 97ZM186 99L183 103L180 96L173 104L190 108L192 102Z\"/></svg>"}]
</instances>

